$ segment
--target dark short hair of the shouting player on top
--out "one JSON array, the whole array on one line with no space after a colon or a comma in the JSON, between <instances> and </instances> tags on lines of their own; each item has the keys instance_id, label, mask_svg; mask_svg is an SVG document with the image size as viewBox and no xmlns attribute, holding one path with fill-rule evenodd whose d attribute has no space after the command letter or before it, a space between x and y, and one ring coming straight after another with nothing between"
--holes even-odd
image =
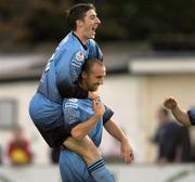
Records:
<instances>
[{"instance_id":1,"label":"dark short hair of the shouting player on top","mask_svg":"<svg viewBox=\"0 0 195 182\"><path fill-rule=\"evenodd\" d=\"M76 30L76 21L82 20L86 16L86 13L91 9L95 10L95 6L92 3L78 3L72 6L67 11L67 21L69 27L73 30Z\"/></svg>"}]
</instances>

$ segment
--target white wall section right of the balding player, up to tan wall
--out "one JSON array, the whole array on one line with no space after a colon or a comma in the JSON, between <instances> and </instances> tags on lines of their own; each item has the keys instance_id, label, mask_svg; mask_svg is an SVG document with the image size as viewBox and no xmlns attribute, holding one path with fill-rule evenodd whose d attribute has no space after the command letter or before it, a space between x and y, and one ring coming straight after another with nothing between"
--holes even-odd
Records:
<instances>
[{"instance_id":1,"label":"white wall section right of the balding player, up to tan wall","mask_svg":"<svg viewBox=\"0 0 195 182\"><path fill-rule=\"evenodd\" d=\"M128 134L136 161L143 160L143 134L140 126L140 81L130 75L110 76L101 88L104 103L114 110L114 119ZM117 146L104 132L101 150L104 155L114 153ZM142 150L140 150L142 148ZM119 153L119 151L118 151Z\"/></svg>"}]
</instances>

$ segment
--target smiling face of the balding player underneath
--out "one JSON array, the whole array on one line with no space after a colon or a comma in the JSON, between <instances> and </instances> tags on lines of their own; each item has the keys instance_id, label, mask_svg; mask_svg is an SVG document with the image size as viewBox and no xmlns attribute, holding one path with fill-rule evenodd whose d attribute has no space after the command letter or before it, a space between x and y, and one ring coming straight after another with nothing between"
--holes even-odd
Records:
<instances>
[{"instance_id":1,"label":"smiling face of the balding player underneath","mask_svg":"<svg viewBox=\"0 0 195 182\"><path fill-rule=\"evenodd\" d=\"M83 83L88 91L96 91L100 84L103 84L106 70L104 66L94 65L90 73L86 73Z\"/></svg>"}]
</instances>

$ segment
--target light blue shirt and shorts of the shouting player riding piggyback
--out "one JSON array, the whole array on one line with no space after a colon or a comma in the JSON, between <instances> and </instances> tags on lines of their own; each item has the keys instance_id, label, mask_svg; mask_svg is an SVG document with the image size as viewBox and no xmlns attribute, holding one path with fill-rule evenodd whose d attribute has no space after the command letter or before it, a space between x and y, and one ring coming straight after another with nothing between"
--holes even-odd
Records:
<instances>
[{"instance_id":1,"label":"light blue shirt and shorts of the shouting player riding piggyback","mask_svg":"<svg viewBox=\"0 0 195 182\"><path fill-rule=\"evenodd\" d=\"M69 94L69 88L77 81L81 67L89 57L103 58L99 46L92 39L83 44L70 31L49 60L37 93L29 103L30 117L50 146L62 144L66 138L62 112L63 98L68 98L66 93ZM74 92L69 95L77 98ZM56 131L62 132L57 135Z\"/></svg>"}]
</instances>

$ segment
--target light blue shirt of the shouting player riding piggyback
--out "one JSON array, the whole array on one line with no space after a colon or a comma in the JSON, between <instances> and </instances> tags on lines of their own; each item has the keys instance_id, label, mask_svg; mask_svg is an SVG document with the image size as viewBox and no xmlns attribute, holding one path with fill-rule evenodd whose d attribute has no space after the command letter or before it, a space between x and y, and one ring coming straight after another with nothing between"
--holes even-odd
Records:
<instances>
[{"instance_id":1,"label":"light blue shirt of the shouting player riding piggyback","mask_svg":"<svg viewBox=\"0 0 195 182\"><path fill-rule=\"evenodd\" d=\"M69 88L77 81L81 67L88 57L102 58L102 56L94 40L88 40L84 46L74 32L69 32L49 60L38 92L52 102L62 104L60 89Z\"/></svg>"}]
</instances>

